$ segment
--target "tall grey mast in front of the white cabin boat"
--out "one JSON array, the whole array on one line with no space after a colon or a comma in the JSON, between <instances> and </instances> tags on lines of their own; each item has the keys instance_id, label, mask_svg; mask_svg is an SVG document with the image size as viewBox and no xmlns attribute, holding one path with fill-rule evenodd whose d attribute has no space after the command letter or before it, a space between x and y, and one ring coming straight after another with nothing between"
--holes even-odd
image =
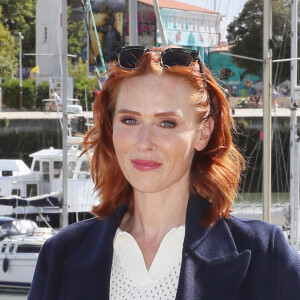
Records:
<instances>
[{"instance_id":1,"label":"tall grey mast in front of the white cabin boat","mask_svg":"<svg viewBox=\"0 0 300 300\"><path fill-rule=\"evenodd\" d=\"M61 227L64 228L69 223L68 218L68 115L67 115L67 0L61 1L61 62L62 62L62 78L61 78L61 99L63 103L63 203L61 214Z\"/></svg>"}]
</instances>

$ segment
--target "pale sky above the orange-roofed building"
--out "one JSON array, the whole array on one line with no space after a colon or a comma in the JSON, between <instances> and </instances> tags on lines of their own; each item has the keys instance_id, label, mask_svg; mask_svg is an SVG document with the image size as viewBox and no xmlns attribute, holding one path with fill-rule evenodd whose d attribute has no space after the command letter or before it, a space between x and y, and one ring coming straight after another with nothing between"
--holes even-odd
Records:
<instances>
[{"instance_id":1,"label":"pale sky above the orange-roofed building","mask_svg":"<svg viewBox=\"0 0 300 300\"><path fill-rule=\"evenodd\" d=\"M226 28L234 17L237 17L247 0L177 0L180 2L211 9L226 15L221 23L221 39L226 40Z\"/></svg>"}]
</instances>

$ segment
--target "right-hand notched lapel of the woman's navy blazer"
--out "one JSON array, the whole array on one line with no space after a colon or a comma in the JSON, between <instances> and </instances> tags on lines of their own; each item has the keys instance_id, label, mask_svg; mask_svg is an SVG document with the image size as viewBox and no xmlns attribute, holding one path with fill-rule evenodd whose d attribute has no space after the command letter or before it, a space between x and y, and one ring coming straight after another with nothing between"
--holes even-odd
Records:
<instances>
[{"instance_id":1,"label":"right-hand notched lapel of the woman's navy blazer","mask_svg":"<svg viewBox=\"0 0 300 300\"><path fill-rule=\"evenodd\" d=\"M251 252L238 253L224 219L211 227L200 225L209 205L189 199L176 300L233 300L246 275Z\"/></svg>"}]
</instances>

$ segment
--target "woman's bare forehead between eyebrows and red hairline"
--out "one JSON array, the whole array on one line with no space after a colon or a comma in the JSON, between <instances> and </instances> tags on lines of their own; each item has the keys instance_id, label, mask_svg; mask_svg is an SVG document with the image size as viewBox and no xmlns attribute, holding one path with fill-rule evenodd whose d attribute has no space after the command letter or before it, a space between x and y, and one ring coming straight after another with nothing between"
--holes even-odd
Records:
<instances>
[{"instance_id":1,"label":"woman's bare forehead between eyebrows and red hairline","mask_svg":"<svg viewBox=\"0 0 300 300\"><path fill-rule=\"evenodd\" d=\"M196 93L192 84L184 78L174 75L146 74L139 77L125 79L117 95L117 109L120 106L147 106L176 108L189 104L189 100Z\"/></svg>"}]
</instances>

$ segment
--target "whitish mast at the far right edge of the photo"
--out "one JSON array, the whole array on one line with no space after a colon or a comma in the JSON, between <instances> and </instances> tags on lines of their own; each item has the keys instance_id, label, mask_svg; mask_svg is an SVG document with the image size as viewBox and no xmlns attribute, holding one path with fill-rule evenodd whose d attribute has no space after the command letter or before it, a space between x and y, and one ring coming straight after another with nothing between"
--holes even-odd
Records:
<instances>
[{"instance_id":1,"label":"whitish mast at the far right edge of the photo","mask_svg":"<svg viewBox=\"0 0 300 300\"><path fill-rule=\"evenodd\" d=\"M298 54L298 1L292 1L291 7L291 57ZM299 137L297 134L297 60L291 61L291 118L290 118L290 211L291 211L291 245L300 250L299 244Z\"/></svg>"}]
</instances>

